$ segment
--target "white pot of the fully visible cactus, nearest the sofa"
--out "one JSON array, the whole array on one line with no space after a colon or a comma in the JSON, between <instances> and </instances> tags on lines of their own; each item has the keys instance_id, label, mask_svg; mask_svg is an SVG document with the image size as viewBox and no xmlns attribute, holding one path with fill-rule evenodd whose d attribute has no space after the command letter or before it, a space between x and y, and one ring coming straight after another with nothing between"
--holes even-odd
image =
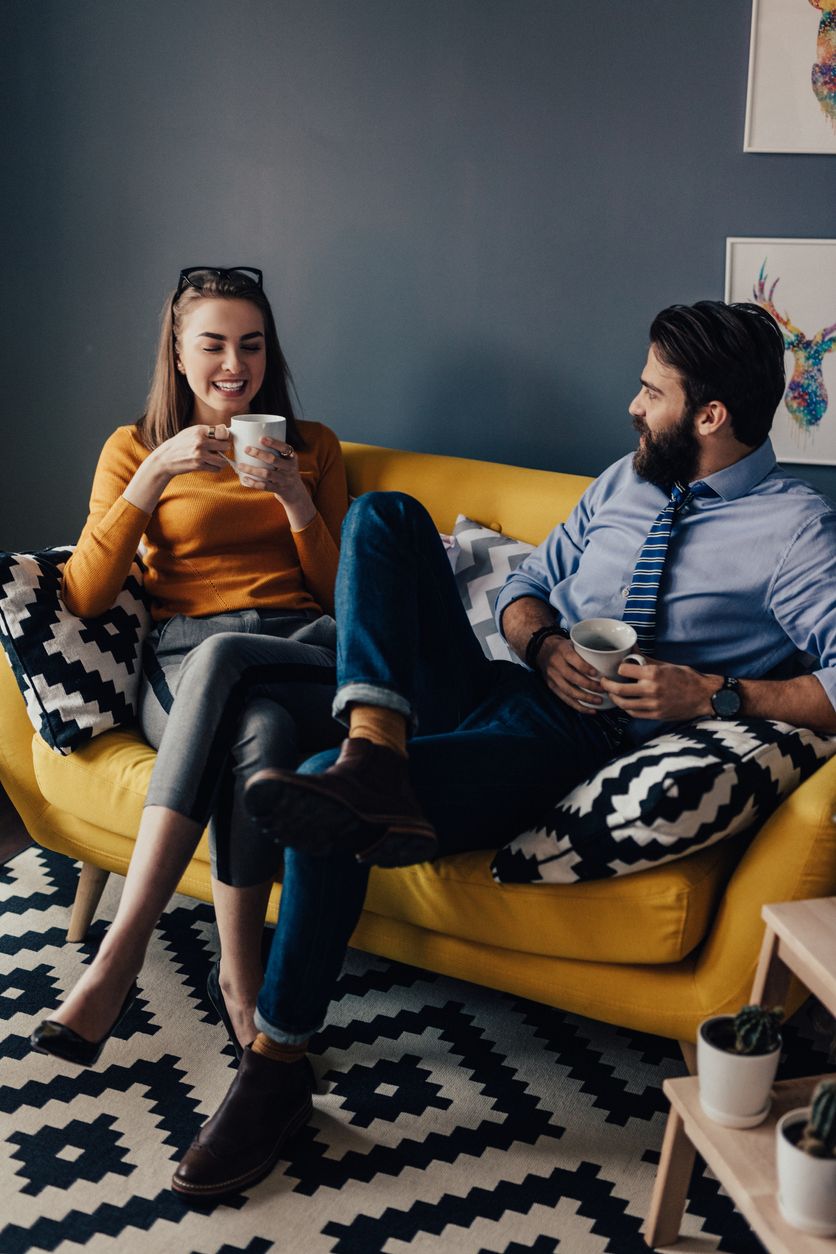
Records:
<instances>
[{"instance_id":1,"label":"white pot of the fully visible cactus, nearest the sofa","mask_svg":"<svg viewBox=\"0 0 836 1254\"><path fill-rule=\"evenodd\" d=\"M699 1105L723 1127L756 1127L770 1114L772 1083L781 1043L771 1053L732 1053L712 1045L706 1028L733 1022L733 1014L714 1014L699 1025L697 1075Z\"/></svg>"}]
</instances>

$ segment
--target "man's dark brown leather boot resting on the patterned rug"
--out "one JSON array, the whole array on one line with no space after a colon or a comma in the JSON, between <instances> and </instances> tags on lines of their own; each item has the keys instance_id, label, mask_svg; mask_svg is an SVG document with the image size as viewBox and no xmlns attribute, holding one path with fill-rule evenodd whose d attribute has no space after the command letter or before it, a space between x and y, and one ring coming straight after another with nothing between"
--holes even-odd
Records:
<instances>
[{"instance_id":1,"label":"man's dark brown leather boot resting on the patterned rug","mask_svg":"<svg viewBox=\"0 0 836 1254\"><path fill-rule=\"evenodd\" d=\"M247 1046L227 1096L192 1142L172 1189L211 1200L263 1180L311 1117L312 1092L307 1058L272 1062Z\"/></svg>"}]
</instances>

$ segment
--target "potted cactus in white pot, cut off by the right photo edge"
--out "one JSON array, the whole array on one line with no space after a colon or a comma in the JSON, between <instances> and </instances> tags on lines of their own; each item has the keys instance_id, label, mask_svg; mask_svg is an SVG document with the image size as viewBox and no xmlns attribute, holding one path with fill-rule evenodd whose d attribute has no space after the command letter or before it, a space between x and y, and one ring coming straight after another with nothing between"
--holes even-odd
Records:
<instances>
[{"instance_id":1,"label":"potted cactus in white pot, cut off by the right photo edge","mask_svg":"<svg viewBox=\"0 0 836 1254\"><path fill-rule=\"evenodd\" d=\"M810 1106L776 1127L778 1206L793 1228L836 1235L836 1078L822 1080Z\"/></svg>"}]
</instances>

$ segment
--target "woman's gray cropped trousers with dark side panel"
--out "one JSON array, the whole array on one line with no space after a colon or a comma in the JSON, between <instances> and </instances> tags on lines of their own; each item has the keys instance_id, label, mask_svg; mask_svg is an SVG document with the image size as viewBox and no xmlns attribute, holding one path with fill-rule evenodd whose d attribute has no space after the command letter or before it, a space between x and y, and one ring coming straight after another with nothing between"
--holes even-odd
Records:
<instances>
[{"instance_id":1,"label":"woman's gray cropped trousers with dark side panel","mask_svg":"<svg viewBox=\"0 0 836 1254\"><path fill-rule=\"evenodd\" d=\"M331 716L336 647L333 618L281 609L177 614L145 640L139 721L157 750L145 805L208 823L224 884L259 884L281 865L243 809L253 771L296 766L345 735Z\"/></svg>"}]
</instances>

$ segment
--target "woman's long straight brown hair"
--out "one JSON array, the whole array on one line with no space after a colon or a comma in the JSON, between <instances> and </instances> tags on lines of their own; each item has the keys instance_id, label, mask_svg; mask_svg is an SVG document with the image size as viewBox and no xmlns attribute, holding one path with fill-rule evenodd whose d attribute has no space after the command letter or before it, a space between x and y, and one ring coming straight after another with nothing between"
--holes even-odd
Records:
<instances>
[{"instance_id":1,"label":"woman's long straight brown hair","mask_svg":"<svg viewBox=\"0 0 836 1254\"><path fill-rule=\"evenodd\" d=\"M213 275L207 271L199 288L187 286L177 298L174 292L167 296L160 316L159 346L147 408L135 424L139 439L147 449L155 449L192 421L194 396L185 376L177 369L177 344L189 308L197 301L218 297L249 301L261 310L264 319L266 365L264 381L253 396L253 411L282 414L287 419L287 443L295 449L303 449L305 439L291 401L291 390L296 391L296 387L278 342L269 301L261 287L232 272Z\"/></svg>"}]
</instances>

